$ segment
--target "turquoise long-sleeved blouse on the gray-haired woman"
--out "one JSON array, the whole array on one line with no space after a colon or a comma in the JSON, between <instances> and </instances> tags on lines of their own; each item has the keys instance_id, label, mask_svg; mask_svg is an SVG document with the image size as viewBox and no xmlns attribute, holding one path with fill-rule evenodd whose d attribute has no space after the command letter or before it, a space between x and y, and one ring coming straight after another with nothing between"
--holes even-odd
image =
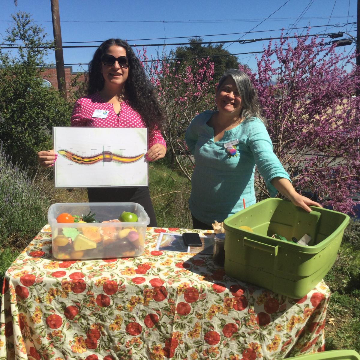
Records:
<instances>
[{"instance_id":1,"label":"turquoise long-sleeved blouse on the gray-haired woman","mask_svg":"<svg viewBox=\"0 0 360 360\"><path fill-rule=\"evenodd\" d=\"M196 116L185 134L188 149L195 158L191 179L189 207L199 221L211 225L255 204L255 165L264 177L270 196L277 190L270 181L274 177L290 180L273 152L269 134L259 118L247 118L234 129L227 130L214 142L213 128L207 125L214 111ZM225 151L225 143L237 140L236 156Z\"/></svg>"}]
</instances>

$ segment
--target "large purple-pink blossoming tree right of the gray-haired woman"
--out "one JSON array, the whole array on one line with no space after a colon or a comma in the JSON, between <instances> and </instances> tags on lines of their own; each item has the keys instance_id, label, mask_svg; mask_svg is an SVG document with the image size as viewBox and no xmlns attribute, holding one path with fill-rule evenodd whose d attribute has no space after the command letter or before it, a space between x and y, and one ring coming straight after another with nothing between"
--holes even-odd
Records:
<instances>
[{"instance_id":1,"label":"large purple-pink blossoming tree right of the gray-haired woman","mask_svg":"<svg viewBox=\"0 0 360 360\"><path fill-rule=\"evenodd\" d=\"M335 46L316 37L296 44L282 37L270 41L255 72L243 70L256 87L274 152L297 191L354 214L352 198L360 191L360 98L354 96L360 69L355 54L337 54ZM268 196L261 177L256 186L260 198Z\"/></svg>"}]
</instances>

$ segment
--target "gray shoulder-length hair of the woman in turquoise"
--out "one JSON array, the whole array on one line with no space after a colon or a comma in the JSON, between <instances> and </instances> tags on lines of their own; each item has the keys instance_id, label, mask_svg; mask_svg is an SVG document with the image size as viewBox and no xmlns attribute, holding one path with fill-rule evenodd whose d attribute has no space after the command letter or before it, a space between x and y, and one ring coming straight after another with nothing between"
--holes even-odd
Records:
<instances>
[{"instance_id":1,"label":"gray shoulder-length hair of the woman in turquoise","mask_svg":"<svg viewBox=\"0 0 360 360\"><path fill-rule=\"evenodd\" d=\"M241 97L242 109L240 116L244 118L258 117L266 125L267 121L266 118L262 116L255 87L252 85L246 73L237 69L226 70L217 85L216 91L220 89L228 77L231 77L235 81Z\"/></svg>"}]
</instances>

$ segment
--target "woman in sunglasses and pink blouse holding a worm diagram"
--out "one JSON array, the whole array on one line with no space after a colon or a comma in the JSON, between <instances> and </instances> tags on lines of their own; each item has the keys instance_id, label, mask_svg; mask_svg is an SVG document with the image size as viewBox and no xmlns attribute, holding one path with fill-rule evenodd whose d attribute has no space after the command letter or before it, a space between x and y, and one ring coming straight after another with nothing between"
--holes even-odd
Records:
<instances>
[{"instance_id":1,"label":"woman in sunglasses and pink blouse holding a worm diagram","mask_svg":"<svg viewBox=\"0 0 360 360\"><path fill-rule=\"evenodd\" d=\"M148 127L148 161L161 159L166 153L161 128L165 118L154 87L145 75L139 59L126 41L109 39L95 51L89 63L87 96L76 101L71 126ZM106 118L93 117L95 110L109 111ZM53 166L54 150L40 151L42 167ZM148 187L89 188L89 202L136 202L157 226Z\"/></svg>"}]
</instances>

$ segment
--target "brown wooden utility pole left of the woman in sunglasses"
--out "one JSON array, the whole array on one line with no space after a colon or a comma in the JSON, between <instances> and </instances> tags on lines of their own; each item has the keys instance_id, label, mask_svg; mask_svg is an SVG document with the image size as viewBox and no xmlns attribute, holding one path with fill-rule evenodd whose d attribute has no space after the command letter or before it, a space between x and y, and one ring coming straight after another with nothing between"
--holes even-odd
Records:
<instances>
[{"instance_id":1,"label":"brown wooden utility pole left of the woman in sunglasses","mask_svg":"<svg viewBox=\"0 0 360 360\"><path fill-rule=\"evenodd\" d=\"M53 17L53 30L54 30L54 40L55 40L55 63L56 63L56 73L58 77L58 89L62 97L66 100L67 94L66 94L63 44L61 40L59 1L58 0L50 0L50 1L51 1L51 14Z\"/></svg>"}]
</instances>

